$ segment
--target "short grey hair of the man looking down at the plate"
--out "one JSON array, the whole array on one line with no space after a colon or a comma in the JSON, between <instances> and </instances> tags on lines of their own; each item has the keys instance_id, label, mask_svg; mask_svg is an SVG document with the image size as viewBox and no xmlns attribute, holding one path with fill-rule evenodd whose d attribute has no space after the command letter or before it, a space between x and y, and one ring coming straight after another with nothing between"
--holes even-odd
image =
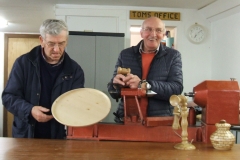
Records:
<instances>
[{"instance_id":1,"label":"short grey hair of the man looking down at the plate","mask_svg":"<svg viewBox=\"0 0 240 160\"><path fill-rule=\"evenodd\" d=\"M63 20L59 19L47 19L40 26L40 35L45 39L46 34L50 35L58 35L61 31L67 31L68 35L68 27L67 24Z\"/></svg>"}]
</instances>

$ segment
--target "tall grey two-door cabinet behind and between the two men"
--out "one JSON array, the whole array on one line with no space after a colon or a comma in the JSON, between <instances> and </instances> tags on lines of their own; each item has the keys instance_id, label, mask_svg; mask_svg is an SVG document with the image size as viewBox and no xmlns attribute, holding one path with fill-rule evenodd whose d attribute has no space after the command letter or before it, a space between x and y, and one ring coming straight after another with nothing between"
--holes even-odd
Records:
<instances>
[{"instance_id":1,"label":"tall grey two-door cabinet behind and between the two men","mask_svg":"<svg viewBox=\"0 0 240 160\"><path fill-rule=\"evenodd\" d=\"M69 32L66 51L84 70L85 88L98 89L111 100L111 111L104 122L114 122L112 113L116 111L118 103L108 94L107 83L112 78L118 55L123 49L123 33Z\"/></svg>"}]
</instances>

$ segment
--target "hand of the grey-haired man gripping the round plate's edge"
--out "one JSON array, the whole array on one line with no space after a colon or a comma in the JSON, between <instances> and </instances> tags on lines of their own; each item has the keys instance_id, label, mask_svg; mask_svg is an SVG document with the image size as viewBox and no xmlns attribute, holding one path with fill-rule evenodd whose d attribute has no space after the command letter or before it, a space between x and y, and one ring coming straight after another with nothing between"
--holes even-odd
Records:
<instances>
[{"instance_id":1,"label":"hand of the grey-haired man gripping the round plate's edge","mask_svg":"<svg viewBox=\"0 0 240 160\"><path fill-rule=\"evenodd\" d=\"M34 106L31 114L38 122L47 122L53 118L52 115L47 115L44 112L49 112L49 109L42 106Z\"/></svg>"}]
</instances>

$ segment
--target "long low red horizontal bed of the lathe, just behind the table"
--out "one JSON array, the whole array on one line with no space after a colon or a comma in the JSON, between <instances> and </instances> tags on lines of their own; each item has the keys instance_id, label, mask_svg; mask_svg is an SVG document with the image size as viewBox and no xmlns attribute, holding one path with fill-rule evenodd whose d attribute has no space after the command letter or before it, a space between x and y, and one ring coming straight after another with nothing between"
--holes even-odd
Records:
<instances>
[{"instance_id":1,"label":"long low red horizontal bed of the lathe, just behind the table","mask_svg":"<svg viewBox=\"0 0 240 160\"><path fill-rule=\"evenodd\" d=\"M121 125L98 123L87 127L68 127L67 139L120 140L146 142L181 142L182 130L172 126L146 127L142 125ZM201 142L201 127L188 127L188 139Z\"/></svg>"}]
</instances>

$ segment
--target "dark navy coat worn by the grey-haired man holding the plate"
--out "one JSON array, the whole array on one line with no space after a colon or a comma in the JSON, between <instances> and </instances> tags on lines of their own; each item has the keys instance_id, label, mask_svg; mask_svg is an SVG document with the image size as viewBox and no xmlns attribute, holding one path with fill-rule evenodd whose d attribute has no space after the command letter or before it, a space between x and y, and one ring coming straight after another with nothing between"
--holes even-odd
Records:
<instances>
[{"instance_id":1,"label":"dark navy coat worn by the grey-haired man holding the plate","mask_svg":"<svg viewBox=\"0 0 240 160\"><path fill-rule=\"evenodd\" d=\"M17 138L33 138L36 120L31 115L33 106L39 105L41 94L40 56L41 46L18 57L12 67L7 85L2 93L5 108L14 115L12 135ZM84 72L68 54L64 53L63 70L56 79L51 102L61 94L84 87ZM70 107L70 106L69 106ZM63 139L64 125L51 120L51 138Z\"/></svg>"}]
</instances>

